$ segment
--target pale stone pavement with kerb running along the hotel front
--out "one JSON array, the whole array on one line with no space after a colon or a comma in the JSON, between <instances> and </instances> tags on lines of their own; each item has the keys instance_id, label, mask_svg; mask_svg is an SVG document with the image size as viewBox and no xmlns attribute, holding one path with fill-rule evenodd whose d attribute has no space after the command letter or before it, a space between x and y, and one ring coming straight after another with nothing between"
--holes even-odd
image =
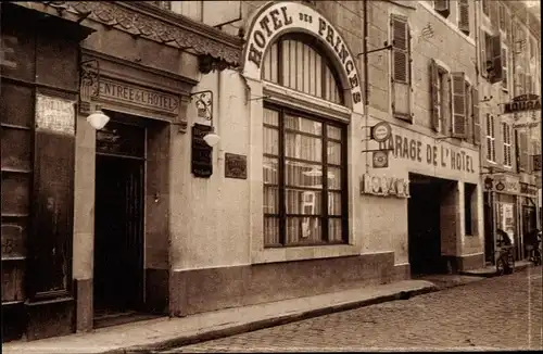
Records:
<instances>
[{"instance_id":1,"label":"pale stone pavement with kerb running along the hotel front","mask_svg":"<svg viewBox=\"0 0 543 354\"><path fill-rule=\"evenodd\" d=\"M2 344L3 353L151 352L283 325L334 312L438 291L426 280L363 286L320 295L213 311L187 317L162 317L92 332Z\"/></svg>"}]
</instances>

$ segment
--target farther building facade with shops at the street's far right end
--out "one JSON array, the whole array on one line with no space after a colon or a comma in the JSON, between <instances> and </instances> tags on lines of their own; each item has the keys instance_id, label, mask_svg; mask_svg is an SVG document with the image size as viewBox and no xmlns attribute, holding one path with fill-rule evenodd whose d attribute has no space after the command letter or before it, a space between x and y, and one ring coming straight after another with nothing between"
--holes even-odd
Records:
<instances>
[{"instance_id":1,"label":"farther building facade with shops at the street's far right end","mask_svg":"<svg viewBox=\"0 0 543 354\"><path fill-rule=\"evenodd\" d=\"M483 117L485 258L494 263L496 231L513 239L516 260L528 257L523 236L541 227L541 21L522 1L480 1L479 74Z\"/></svg>"}]
</instances>

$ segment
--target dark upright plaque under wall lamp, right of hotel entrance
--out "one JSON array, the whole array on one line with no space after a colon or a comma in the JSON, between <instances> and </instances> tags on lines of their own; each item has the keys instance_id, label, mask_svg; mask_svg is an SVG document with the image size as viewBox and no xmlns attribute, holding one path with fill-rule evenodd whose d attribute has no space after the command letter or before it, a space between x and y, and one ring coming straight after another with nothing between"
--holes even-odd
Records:
<instances>
[{"instance_id":1,"label":"dark upright plaque under wall lamp, right of hotel entrance","mask_svg":"<svg viewBox=\"0 0 543 354\"><path fill-rule=\"evenodd\" d=\"M210 131L209 125L192 126L191 169L195 177L207 178L213 174L213 148L203 139Z\"/></svg>"}]
</instances>

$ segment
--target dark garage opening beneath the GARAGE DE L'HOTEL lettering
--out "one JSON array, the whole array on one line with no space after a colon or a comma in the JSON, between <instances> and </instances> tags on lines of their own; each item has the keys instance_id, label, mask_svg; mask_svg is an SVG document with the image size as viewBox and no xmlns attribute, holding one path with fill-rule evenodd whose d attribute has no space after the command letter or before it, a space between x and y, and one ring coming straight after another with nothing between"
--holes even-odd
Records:
<instances>
[{"instance_id":1,"label":"dark garage opening beneath the GARAGE DE L'HOTEL lettering","mask_svg":"<svg viewBox=\"0 0 543 354\"><path fill-rule=\"evenodd\" d=\"M407 224L412 275L446 273L441 255L441 204L451 181L409 174Z\"/></svg>"}]
</instances>

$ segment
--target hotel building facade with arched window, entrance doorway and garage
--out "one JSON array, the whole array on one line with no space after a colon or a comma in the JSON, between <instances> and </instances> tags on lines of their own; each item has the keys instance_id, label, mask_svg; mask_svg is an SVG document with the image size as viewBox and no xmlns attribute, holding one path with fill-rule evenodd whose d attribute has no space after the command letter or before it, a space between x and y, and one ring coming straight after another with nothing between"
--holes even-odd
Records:
<instances>
[{"instance_id":1,"label":"hotel building facade with arched window, entrance doorway and garage","mask_svg":"<svg viewBox=\"0 0 543 354\"><path fill-rule=\"evenodd\" d=\"M23 88L2 90L4 338L483 266L479 2L5 11L81 35L72 56L50 46L41 66L71 77L70 94L38 90L15 105ZM2 22L3 48L24 52L16 25ZM37 69L3 71L40 56L10 53L2 85L41 85ZM87 117L99 109L111 121L97 130ZM67 142L42 147L41 130ZM22 293L35 287L41 298Z\"/></svg>"}]
</instances>

